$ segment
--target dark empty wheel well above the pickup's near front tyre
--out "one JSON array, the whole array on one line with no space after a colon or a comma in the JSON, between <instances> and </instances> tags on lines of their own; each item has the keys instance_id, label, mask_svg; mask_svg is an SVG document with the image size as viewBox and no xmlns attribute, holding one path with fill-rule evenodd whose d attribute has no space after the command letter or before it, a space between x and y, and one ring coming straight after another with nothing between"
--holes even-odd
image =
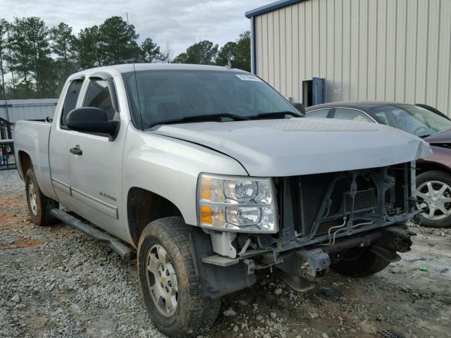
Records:
<instances>
[{"instance_id":1,"label":"dark empty wheel well above the pickup's near front tyre","mask_svg":"<svg viewBox=\"0 0 451 338\"><path fill-rule=\"evenodd\" d=\"M128 230L135 246L140 241L144 227L154 220L168 216L183 218L180 209L165 197L140 187L131 187L128 190Z\"/></svg>"}]
</instances>

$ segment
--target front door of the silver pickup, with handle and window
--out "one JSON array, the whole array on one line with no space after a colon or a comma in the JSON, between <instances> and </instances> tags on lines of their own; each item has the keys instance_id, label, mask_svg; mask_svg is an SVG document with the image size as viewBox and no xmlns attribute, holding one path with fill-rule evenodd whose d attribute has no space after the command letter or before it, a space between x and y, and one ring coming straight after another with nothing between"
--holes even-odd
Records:
<instances>
[{"instance_id":1,"label":"front door of the silver pickup, with handle and window","mask_svg":"<svg viewBox=\"0 0 451 338\"><path fill-rule=\"evenodd\" d=\"M90 77L82 106L106 111L110 120L120 118L115 107L113 79ZM70 149L70 187L75 203L73 211L104 230L121 236L122 156L125 124L113 141L106 134L73 132Z\"/></svg>"}]
</instances>

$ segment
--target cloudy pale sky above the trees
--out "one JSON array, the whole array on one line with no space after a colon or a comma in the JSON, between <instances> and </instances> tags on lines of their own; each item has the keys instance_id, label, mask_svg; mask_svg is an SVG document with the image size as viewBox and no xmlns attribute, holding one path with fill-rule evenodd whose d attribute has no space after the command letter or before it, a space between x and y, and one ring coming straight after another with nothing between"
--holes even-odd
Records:
<instances>
[{"instance_id":1,"label":"cloudy pale sky above the trees","mask_svg":"<svg viewBox=\"0 0 451 338\"><path fill-rule=\"evenodd\" d=\"M187 46L209 39L220 46L237 39L249 30L245 12L270 3L271 0L0 0L0 18L37 16L49 27L64 22L75 33L82 28L99 25L113 15L128 12L140 40L152 37L174 55Z\"/></svg>"}]
</instances>

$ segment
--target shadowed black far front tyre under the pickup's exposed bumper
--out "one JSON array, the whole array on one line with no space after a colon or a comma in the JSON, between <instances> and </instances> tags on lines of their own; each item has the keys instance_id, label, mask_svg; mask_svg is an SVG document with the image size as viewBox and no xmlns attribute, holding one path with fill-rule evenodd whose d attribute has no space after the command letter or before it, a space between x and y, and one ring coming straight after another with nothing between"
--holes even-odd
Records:
<instances>
[{"instance_id":1,"label":"shadowed black far front tyre under the pickup's exposed bumper","mask_svg":"<svg viewBox=\"0 0 451 338\"><path fill-rule=\"evenodd\" d=\"M387 268L389 261L369 251L367 247L352 248L342 252L340 261L330 268L341 275L367 277Z\"/></svg>"}]
</instances>

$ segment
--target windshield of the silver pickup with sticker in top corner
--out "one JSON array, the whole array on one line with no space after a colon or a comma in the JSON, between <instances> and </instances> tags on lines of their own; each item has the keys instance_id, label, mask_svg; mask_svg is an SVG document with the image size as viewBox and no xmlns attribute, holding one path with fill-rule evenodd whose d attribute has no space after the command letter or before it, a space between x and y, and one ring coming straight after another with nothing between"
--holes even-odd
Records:
<instances>
[{"instance_id":1,"label":"windshield of the silver pickup with sticker in top corner","mask_svg":"<svg viewBox=\"0 0 451 338\"><path fill-rule=\"evenodd\" d=\"M166 121L198 122L203 115L205 120L216 115L218 121L301 116L275 89L248 73L142 70L136 78L133 72L123 73L123 79L133 123L144 129Z\"/></svg>"}]
</instances>

